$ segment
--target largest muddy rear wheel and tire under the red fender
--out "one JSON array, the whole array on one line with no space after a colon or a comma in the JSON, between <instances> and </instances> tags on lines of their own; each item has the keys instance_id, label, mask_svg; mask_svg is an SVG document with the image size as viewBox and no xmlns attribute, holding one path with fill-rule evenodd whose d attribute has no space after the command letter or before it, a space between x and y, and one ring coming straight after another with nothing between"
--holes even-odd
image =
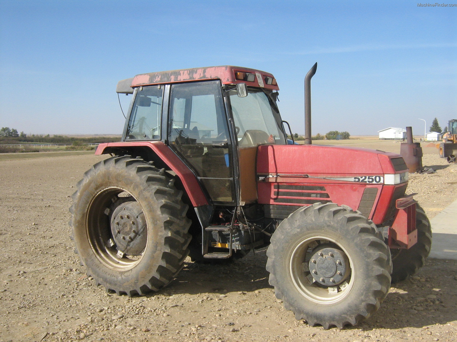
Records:
<instances>
[{"instance_id":1,"label":"largest muddy rear wheel and tire under the red fender","mask_svg":"<svg viewBox=\"0 0 457 342\"><path fill-rule=\"evenodd\" d=\"M77 187L72 238L97 285L145 295L175 278L189 253L190 220L165 170L114 156L86 171Z\"/></svg>"}]
</instances>

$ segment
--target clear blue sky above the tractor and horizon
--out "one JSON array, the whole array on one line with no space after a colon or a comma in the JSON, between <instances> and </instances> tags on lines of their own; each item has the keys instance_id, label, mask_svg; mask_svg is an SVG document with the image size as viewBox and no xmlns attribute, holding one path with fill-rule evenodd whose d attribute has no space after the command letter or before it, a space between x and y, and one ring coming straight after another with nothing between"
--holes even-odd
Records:
<instances>
[{"instance_id":1,"label":"clear blue sky above the tractor and horizon","mask_svg":"<svg viewBox=\"0 0 457 342\"><path fill-rule=\"evenodd\" d=\"M282 117L303 134L303 78L314 62L313 134L412 126L420 135L419 118L427 131L435 117L441 127L457 119L457 7L0 0L0 126L120 134L119 80L228 64L273 73Z\"/></svg>"}]
</instances>

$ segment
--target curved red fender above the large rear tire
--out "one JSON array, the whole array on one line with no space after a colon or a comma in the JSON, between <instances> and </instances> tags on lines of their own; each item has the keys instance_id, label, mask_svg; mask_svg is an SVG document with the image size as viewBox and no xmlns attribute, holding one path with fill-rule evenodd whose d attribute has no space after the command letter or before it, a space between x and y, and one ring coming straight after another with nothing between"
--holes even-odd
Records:
<instances>
[{"instance_id":1,"label":"curved red fender above the large rear tire","mask_svg":"<svg viewBox=\"0 0 457 342\"><path fill-rule=\"evenodd\" d=\"M162 141L129 141L98 145L96 155L107 153L140 156L147 161L154 161L157 167L165 167L176 173L194 207L209 204L195 174Z\"/></svg>"}]
</instances>

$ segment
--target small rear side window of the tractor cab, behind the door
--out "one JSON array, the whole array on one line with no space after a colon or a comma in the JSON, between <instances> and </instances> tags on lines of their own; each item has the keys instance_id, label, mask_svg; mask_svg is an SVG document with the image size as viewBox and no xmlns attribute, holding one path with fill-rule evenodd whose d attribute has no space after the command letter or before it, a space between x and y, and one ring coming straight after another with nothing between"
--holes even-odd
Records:
<instances>
[{"instance_id":1,"label":"small rear side window of the tractor cab, behind the door","mask_svg":"<svg viewBox=\"0 0 457 342\"><path fill-rule=\"evenodd\" d=\"M160 140L163 87L138 89L125 140Z\"/></svg>"}]
</instances>

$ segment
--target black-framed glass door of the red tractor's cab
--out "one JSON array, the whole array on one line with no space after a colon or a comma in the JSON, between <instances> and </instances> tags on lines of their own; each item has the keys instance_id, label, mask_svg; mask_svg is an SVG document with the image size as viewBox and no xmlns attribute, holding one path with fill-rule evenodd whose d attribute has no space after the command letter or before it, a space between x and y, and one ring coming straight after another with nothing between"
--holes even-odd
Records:
<instances>
[{"instance_id":1,"label":"black-framed glass door of the red tractor's cab","mask_svg":"<svg viewBox=\"0 0 457 342\"><path fill-rule=\"evenodd\" d=\"M170 147L191 166L215 203L235 203L232 141L220 81L172 84Z\"/></svg>"}]
</instances>

